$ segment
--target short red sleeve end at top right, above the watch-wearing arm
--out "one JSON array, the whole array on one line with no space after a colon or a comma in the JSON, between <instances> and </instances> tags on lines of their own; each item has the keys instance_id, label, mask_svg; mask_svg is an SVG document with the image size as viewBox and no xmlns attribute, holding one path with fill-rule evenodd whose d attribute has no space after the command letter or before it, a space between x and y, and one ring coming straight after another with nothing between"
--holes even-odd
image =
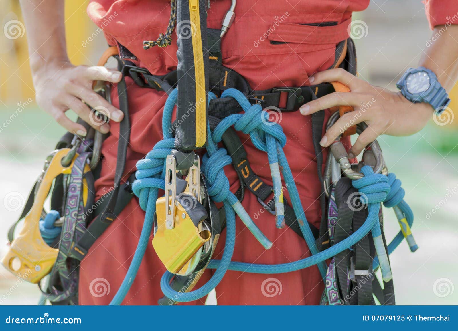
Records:
<instances>
[{"instance_id":1,"label":"short red sleeve end at top right, above the watch-wearing arm","mask_svg":"<svg viewBox=\"0 0 458 331\"><path fill-rule=\"evenodd\" d=\"M457 0L424 0L431 30L437 25L458 24Z\"/></svg>"}]
</instances>

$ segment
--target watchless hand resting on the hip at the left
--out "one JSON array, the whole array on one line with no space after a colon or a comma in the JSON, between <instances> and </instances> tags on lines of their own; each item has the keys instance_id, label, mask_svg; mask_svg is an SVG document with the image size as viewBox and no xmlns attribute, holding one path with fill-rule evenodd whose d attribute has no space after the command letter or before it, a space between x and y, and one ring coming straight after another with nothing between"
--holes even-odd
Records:
<instances>
[{"instance_id":1,"label":"watchless hand resting on the hip at the left","mask_svg":"<svg viewBox=\"0 0 458 331\"><path fill-rule=\"evenodd\" d=\"M65 112L71 109L94 129L108 133L110 126L94 120L94 114L91 114L87 105L103 113L105 118L120 122L123 113L92 89L95 80L117 83L120 79L119 71L103 66L74 66L70 62L51 62L33 71L38 106L54 117L65 130L80 136L86 135L86 129L69 119Z\"/></svg>"}]
</instances>

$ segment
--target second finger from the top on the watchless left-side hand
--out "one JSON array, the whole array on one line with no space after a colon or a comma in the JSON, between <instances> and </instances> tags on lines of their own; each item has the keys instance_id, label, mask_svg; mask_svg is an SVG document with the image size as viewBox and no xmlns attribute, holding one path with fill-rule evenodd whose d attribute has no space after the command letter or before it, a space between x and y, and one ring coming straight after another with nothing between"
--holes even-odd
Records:
<instances>
[{"instance_id":1,"label":"second finger from the top on the watchless left-side hand","mask_svg":"<svg viewBox=\"0 0 458 331\"><path fill-rule=\"evenodd\" d=\"M92 108L98 110L100 113L103 113L109 119L112 119L115 122L120 122L123 119L124 114L119 109L114 107L92 89L79 87L74 84L69 85L66 89L67 92L80 98Z\"/></svg>"}]
</instances>

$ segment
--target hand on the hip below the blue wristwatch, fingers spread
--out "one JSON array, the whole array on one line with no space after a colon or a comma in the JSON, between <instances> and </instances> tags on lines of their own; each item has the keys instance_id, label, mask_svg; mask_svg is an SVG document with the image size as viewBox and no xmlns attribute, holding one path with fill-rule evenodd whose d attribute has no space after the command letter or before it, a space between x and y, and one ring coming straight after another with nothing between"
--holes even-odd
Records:
<instances>
[{"instance_id":1,"label":"hand on the hip below the blue wristwatch, fingers spread","mask_svg":"<svg viewBox=\"0 0 458 331\"><path fill-rule=\"evenodd\" d=\"M350 126L366 122L368 128L351 147L349 157L358 155L378 136L409 136L420 131L431 119L433 109L427 103L412 103L400 93L372 86L344 69L321 71L310 77L311 84L338 81L350 92L333 92L300 107L303 115L335 106L348 105L354 111L344 114L327 130L320 145L327 147ZM353 154L353 155L352 155Z\"/></svg>"}]
</instances>

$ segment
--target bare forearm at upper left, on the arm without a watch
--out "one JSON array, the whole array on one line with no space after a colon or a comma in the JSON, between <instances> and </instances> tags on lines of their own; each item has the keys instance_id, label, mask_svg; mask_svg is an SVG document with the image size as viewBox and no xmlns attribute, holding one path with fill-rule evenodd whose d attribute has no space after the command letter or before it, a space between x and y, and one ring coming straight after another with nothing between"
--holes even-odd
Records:
<instances>
[{"instance_id":1,"label":"bare forearm at upper left, on the arm without a watch","mask_svg":"<svg viewBox=\"0 0 458 331\"><path fill-rule=\"evenodd\" d=\"M20 0L27 28L30 65L35 72L49 63L68 62L64 0Z\"/></svg>"}]
</instances>

